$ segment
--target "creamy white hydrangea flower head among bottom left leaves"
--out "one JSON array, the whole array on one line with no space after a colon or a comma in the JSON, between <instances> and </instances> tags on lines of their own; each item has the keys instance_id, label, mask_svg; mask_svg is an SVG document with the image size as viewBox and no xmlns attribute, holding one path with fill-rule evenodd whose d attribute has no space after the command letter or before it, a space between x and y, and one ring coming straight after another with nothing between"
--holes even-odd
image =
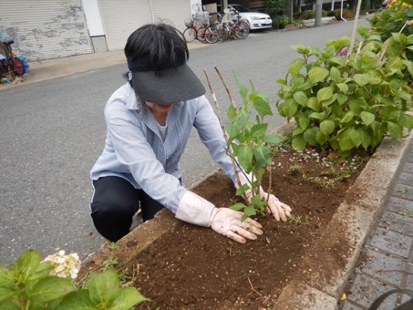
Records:
<instances>
[{"instance_id":1,"label":"creamy white hydrangea flower head among bottom left leaves","mask_svg":"<svg viewBox=\"0 0 413 310\"><path fill-rule=\"evenodd\" d=\"M76 253L65 255L63 250L47 256L43 261L52 262L53 269L50 271L50 276L58 276L59 278L70 276L70 278L76 279L81 268L79 256Z\"/></svg>"}]
</instances>

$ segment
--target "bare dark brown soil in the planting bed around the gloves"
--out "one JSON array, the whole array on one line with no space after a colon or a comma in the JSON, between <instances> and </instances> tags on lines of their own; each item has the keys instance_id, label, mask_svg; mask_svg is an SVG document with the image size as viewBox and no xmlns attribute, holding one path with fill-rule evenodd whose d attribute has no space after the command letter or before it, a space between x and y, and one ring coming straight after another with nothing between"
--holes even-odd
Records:
<instances>
[{"instance_id":1,"label":"bare dark brown soil in the planting bed around the gloves","mask_svg":"<svg viewBox=\"0 0 413 310\"><path fill-rule=\"evenodd\" d=\"M299 274L296 271L308 249L317 242L359 174L336 180L332 188L317 186L304 180L302 172L310 178L328 181L331 176L320 176L320 172L330 171L331 168L326 167L330 164L315 152L308 152L281 152L273 158L272 192L293 208L295 222L257 218L264 227L264 235L244 245L204 227L183 225L171 230L134 260L138 266L135 286L151 299L137 309L273 307L293 274ZM297 165L299 170L291 169L292 165ZM349 165L337 164L335 171ZM363 163L358 166L359 171L362 166ZM268 188L265 183L264 188ZM223 175L211 176L194 192L217 207L234 203L235 189ZM343 244L337 249L338 254L346 255L347 249Z\"/></svg>"}]
</instances>

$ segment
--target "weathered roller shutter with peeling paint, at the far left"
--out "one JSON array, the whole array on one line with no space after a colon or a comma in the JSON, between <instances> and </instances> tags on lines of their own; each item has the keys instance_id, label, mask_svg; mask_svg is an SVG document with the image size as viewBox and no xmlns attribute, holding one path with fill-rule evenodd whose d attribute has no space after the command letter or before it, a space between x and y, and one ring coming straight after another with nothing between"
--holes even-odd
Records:
<instances>
[{"instance_id":1,"label":"weathered roller shutter with peeling paint, at the far left","mask_svg":"<svg viewBox=\"0 0 413 310\"><path fill-rule=\"evenodd\" d=\"M0 31L30 61L92 53L81 0L1 0Z\"/></svg>"}]
</instances>

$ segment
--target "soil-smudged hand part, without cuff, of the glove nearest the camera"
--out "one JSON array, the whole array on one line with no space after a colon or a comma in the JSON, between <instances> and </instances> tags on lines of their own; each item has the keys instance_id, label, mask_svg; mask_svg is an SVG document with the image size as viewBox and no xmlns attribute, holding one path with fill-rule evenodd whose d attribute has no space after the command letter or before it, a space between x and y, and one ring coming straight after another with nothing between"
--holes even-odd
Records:
<instances>
[{"instance_id":1,"label":"soil-smudged hand part, without cuff, of the glove nearest the camera","mask_svg":"<svg viewBox=\"0 0 413 310\"><path fill-rule=\"evenodd\" d=\"M222 236L245 243L246 239L256 240L262 235L262 225L251 218L241 221L242 212L228 208L215 208L211 228Z\"/></svg>"}]
</instances>

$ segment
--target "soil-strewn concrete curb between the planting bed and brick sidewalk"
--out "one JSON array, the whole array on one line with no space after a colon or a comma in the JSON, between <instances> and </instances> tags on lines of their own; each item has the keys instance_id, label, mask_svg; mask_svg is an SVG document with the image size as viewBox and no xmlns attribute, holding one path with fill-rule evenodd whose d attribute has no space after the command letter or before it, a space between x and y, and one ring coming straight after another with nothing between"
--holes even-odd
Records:
<instances>
[{"instance_id":1,"label":"soil-strewn concrete curb between the planting bed and brick sidewalk","mask_svg":"<svg viewBox=\"0 0 413 310\"><path fill-rule=\"evenodd\" d=\"M366 238L383 213L412 141L413 132L397 141L389 137L383 139L324 230L321 238L328 240L328 244L319 242L310 250L305 263L308 275L284 287L275 309L338 309L341 293L357 267ZM360 189L365 194L354 199ZM326 270L326 262L339 264L334 251L329 249L346 241L350 250L340 263L341 266ZM323 257L317 253L323 253Z\"/></svg>"}]
</instances>

